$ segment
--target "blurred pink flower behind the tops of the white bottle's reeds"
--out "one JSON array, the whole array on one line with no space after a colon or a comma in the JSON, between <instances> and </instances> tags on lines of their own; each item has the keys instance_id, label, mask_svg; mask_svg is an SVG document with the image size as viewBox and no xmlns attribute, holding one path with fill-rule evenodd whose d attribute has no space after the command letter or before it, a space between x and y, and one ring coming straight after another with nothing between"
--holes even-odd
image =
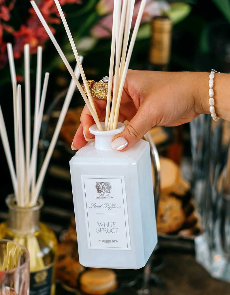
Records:
<instances>
[{"instance_id":1,"label":"blurred pink flower behind the tops of the white bottle's reeds","mask_svg":"<svg viewBox=\"0 0 230 295\"><path fill-rule=\"evenodd\" d=\"M111 9L111 11L113 10L113 1L101 0L99 4L100 3L101 5L102 3L107 5L106 6L107 9ZM141 1L140 0L136 1L134 10L133 10L132 27L134 27L134 24L136 22L140 5L141 5ZM145 6L143 17L142 17L142 22L149 22L152 19L152 17L161 15L163 11L167 11L168 9L169 9L169 4L166 1L147 0L147 4ZM112 32L112 16L113 14L110 13L109 15L103 17L92 28L91 34L98 39L110 37Z\"/></svg>"}]
</instances>

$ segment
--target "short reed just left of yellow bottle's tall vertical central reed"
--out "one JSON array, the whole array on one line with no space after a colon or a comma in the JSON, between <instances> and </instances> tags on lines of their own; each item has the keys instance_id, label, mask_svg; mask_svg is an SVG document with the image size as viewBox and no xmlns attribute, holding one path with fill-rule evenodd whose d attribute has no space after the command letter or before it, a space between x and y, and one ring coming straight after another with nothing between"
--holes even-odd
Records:
<instances>
[{"instance_id":1,"label":"short reed just left of yellow bottle's tall vertical central reed","mask_svg":"<svg viewBox=\"0 0 230 295\"><path fill-rule=\"evenodd\" d=\"M17 86L17 111L18 111L18 153L19 153L19 206L25 207L25 154L22 132L22 89Z\"/></svg>"}]
</instances>

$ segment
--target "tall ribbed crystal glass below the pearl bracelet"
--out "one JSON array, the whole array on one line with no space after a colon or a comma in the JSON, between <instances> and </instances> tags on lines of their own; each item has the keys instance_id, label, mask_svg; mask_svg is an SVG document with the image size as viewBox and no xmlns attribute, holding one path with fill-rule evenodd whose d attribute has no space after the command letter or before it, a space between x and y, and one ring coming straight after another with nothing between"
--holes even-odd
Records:
<instances>
[{"instance_id":1,"label":"tall ribbed crystal glass below the pearl bracelet","mask_svg":"<svg viewBox=\"0 0 230 295\"><path fill-rule=\"evenodd\" d=\"M230 123L201 115L191 123L194 196L204 233L195 239L197 261L230 281Z\"/></svg>"}]
</instances>

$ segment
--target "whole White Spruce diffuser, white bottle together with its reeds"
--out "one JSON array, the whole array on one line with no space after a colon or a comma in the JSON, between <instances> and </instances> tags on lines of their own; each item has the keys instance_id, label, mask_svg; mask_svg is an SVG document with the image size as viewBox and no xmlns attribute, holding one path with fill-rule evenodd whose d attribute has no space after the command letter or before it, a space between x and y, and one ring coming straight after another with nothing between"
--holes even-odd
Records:
<instances>
[{"instance_id":1,"label":"whole White Spruce diffuser, white bottle together with its reeds","mask_svg":"<svg viewBox=\"0 0 230 295\"><path fill-rule=\"evenodd\" d=\"M114 135L124 130L123 123L118 122L120 102L146 0L140 1L132 34L135 0L114 1L109 77L100 82L93 81L97 87L87 81L61 5L58 0L54 1L79 66L84 89L35 1L31 4L96 123L90 127L95 143L90 141L70 161L79 260L88 267L141 268L157 242L149 144L141 140L133 148L118 152L111 148L111 142ZM93 89L98 98L107 99L103 123L99 122L94 106Z\"/></svg>"}]
</instances>

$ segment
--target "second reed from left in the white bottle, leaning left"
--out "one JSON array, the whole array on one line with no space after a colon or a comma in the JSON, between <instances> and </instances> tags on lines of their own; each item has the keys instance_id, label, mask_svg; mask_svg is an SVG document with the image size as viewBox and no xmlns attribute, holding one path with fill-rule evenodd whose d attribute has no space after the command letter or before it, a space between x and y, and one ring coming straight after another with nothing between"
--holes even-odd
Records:
<instances>
[{"instance_id":1,"label":"second reed from left in the white bottle, leaning left","mask_svg":"<svg viewBox=\"0 0 230 295\"><path fill-rule=\"evenodd\" d=\"M81 65L80 59L79 59L79 55L78 55L78 52L77 52L77 49L76 49L76 46L75 46L75 43L74 43L74 39L73 39L73 37L72 37L72 35L71 35L70 29L69 29L68 24L67 24L67 22L66 22L66 18L65 18L64 13L63 13L63 11L62 11L62 9L61 9L61 5L60 5L59 1L58 1L58 0L54 0L54 2L55 2L55 4L56 4L56 6L57 6L58 12L59 12L59 14L60 14L60 16L61 16L61 20L62 20L63 25L64 25L64 27L65 27L65 30L66 30L67 36L68 36L68 38L69 38L69 42L70 42L70 45L71 45L71 47L72 47L72 50L73 50L73 53L74 53L74 56L75 56L75 59L76 59L77 65L78 65L78 67L79 67L79 70L80 70L80 73L81 73L81 78L82 78L82 80L83 80L83 83L84 83L84 86L85 86L85 90L86 90L86 93L87 93L87 96L88 96L89 102L90 102L90 104L91 104L91 106L92 106L92 109L94 110L95 115L97 116L97 111L96 111L95 106L94 106L94 102L93 102L93 99L92 99L92 95L91 95L91 93L90 93L89 85L88 85L88 83L87 83L87 79L86 79L86 76L85 76L84 70L83 70L83 68L82 68L82 65ZM97 117L98 117L98 116L97 116Z\"/></svg>"}]
</instances>

